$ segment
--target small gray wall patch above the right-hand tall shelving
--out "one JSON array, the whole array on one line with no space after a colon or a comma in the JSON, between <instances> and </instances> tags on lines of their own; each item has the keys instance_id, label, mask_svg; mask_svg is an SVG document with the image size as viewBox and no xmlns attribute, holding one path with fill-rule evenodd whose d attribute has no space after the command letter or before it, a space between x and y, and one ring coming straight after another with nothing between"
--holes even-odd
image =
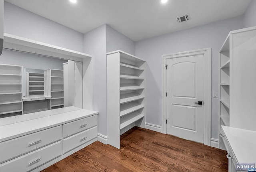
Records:
<instances>
[{"instance_id":1,"label":"small gray wall patch above the right-hand tall shelving","mask_svg":"<svg viewBox=\"0 0 256 172\"><path fill-rule=\"evenodd\" d=\"M244 13L244 28L256 26L256 0L252 0Z\"/></svg>"}]
</instances>

